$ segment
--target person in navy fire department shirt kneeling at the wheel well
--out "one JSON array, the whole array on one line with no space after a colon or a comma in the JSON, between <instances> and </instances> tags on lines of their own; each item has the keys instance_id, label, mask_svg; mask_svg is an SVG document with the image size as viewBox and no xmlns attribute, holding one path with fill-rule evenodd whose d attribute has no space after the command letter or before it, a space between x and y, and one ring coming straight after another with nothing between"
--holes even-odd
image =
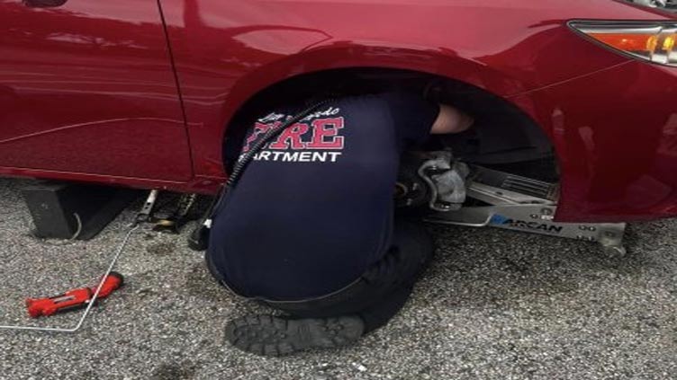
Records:
<instances>
[{"instance_id":1,"label":"person in navy fire department shirt kneeling at the wheel well","mask_svg":"<svg viewBox=\"0 0 677 380\"><path fill-rule=\"evenodd\" d=\"M242 153L294 111L258 119ZM387 323L433 252L418 225L393 217L400 155L471 124L407 93L346 97L258 152L217 210L207 264L234 293L290 315L232 321L228 340L277 356L345 345Z\"/></svg>"}]
</instances>

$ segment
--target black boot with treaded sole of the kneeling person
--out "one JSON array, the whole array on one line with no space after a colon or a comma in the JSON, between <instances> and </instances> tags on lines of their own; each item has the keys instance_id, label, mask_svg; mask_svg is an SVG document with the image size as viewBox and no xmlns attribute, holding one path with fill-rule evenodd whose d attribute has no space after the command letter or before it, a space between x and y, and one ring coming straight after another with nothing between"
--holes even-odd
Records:
<instances>
[{"instance_id":1,"label":"black boot with treaded sole of the kneeling person","mask_svg":"<svg viewBox=\"0 0 677 380\"><path fill-rule=\"evenodd\" d=\"M251 315L226 326L230 343L257 355L279 357L306 349L333 349L357 341L365 331L358 316L333 318Z\"/></svg>"}]
</instances>

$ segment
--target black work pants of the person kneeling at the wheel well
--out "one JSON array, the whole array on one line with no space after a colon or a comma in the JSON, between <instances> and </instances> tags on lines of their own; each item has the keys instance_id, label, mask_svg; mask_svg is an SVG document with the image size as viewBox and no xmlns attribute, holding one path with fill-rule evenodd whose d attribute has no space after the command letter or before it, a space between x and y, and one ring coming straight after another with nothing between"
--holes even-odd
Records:
<instances>
[{"instance_id":1,"label":"black work pants of the person kneeling at the wheel well","mask_svg":"<svg viewBox=\"0 0 677 380\"><path fill-rule=\"evenodd\" d=\"M432 239L420 225L396 220L391 249L352 285L311 300L259 301L299 318L358 315L365 323L365 332L374 331L402 309L433 251ZM223 283L209 261L207 266Z\"/></svg>"}]
</instances>

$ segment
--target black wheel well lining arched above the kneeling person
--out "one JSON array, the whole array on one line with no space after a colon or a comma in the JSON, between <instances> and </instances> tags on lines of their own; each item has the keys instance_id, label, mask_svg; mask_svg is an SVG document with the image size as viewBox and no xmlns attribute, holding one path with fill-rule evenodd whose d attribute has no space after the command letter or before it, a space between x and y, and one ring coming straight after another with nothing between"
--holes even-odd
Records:
<instances>
[{"instance_id":1,"label":"black wheel well lining arched above the kneeling person","mask_svg":"<svg viewBox=\"0 0 677 380\"><path fill-rule=\"evenodd\" d=\"M510 169L544 181L557 181L555 150L542 128L500 96L462 81L411 70L348 68L297 75L267 87L248 100L230 122L224 162L230 170L248 126L285 105L329 96L400 90L432 102L452 104L475 119L472 131L434 137L426 149L451 148L466 162Z\"/></svg>"}]
</instances>

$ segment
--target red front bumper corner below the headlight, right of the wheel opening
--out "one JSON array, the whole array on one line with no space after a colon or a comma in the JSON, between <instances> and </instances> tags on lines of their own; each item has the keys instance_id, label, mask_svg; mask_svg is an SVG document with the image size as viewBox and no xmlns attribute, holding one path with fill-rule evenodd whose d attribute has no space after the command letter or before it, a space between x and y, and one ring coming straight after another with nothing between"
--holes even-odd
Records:
<instances>
[{"instance_id":1,"label":"red front bumper corner below the headlight, right of the wheel opening","mask_svg":"<svg viewBox=\"0 0 677 380\"><path fill-rule=\"evenodd\" d=\"M677 215L677 68L630 61L510 100L551 137L560 220Z\"/></svg>"}]
</instances>

